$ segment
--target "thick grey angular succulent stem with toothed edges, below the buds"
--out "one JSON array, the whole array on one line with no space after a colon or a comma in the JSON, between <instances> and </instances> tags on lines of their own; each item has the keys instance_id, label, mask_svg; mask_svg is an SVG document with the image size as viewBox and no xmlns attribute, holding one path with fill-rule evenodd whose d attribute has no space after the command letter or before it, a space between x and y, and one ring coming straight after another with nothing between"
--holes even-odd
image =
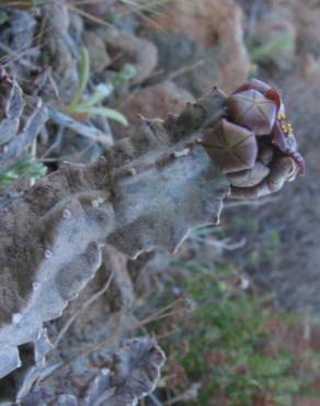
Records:
<instances>
[{"instance_id":1,"label":"thick grey angular succulent stem with toothed edges, below the buds","mask_svg":"<svg viewBox=\"0 0 320 406\"><path fill-rule=\"evenodd\" d=\"M229 183L199 142L224 100L214 90L178 117L142 119L106 159L64 163L0 212L0 377L93 278L104 244L133 258L174 251L218 223Z\"/></svg>"}]
</instances>

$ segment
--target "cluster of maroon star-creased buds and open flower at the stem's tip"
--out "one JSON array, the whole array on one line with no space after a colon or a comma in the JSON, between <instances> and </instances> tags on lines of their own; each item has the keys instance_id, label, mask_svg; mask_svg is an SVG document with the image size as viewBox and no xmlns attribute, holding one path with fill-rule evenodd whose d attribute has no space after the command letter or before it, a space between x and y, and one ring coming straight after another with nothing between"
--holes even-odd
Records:
<instances>
[{"instance_id":1,"label":"cluster of maroon star-creased buds and open flower at the stem's tip","mask_svg":"<svg viewBox=\"0 0 320 406\"><path fill-rule=\"evenodd\" d=\"M304 159L276 89L249 80L227 98L226 106L226 117L205 131L203 145L228 176L231 198L260 198L304 173Z\"/></svg>"}]
</instances>

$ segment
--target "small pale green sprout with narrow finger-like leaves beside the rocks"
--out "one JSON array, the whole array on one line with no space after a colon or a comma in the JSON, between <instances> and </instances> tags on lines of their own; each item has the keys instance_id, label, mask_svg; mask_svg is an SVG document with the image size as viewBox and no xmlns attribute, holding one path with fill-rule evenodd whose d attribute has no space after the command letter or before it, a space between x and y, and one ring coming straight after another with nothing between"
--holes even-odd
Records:
<instances>
[{"instance_id":1,"label":"small pale green sprout with narrow finger-like leaves beside the rocks","mask_svg":"<svg viewBox=\"0 0 320 406\"><path fill-rule=\"evenodd\" d=\"M70 115L88 119L91 115L103 115L107 119L116 121L123 125L127 125L126 117L114 109L101 105L101 102L111 95L118 87L127 83L134 76L136 70L132 65L125 65L123 69L115 76L112 82L107 84L99 84L94 92L84 98L84 91L88 87L90 77L90 57L88 49L83 49L79 65L79 86L72 102L65 109Z\"/></svg>"}]
</instances>

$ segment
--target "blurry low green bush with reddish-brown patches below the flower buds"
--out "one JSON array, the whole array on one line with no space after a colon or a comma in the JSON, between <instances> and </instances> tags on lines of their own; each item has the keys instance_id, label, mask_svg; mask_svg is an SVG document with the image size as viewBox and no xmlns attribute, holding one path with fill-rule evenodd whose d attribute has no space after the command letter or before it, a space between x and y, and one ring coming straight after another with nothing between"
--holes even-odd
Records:
<instances>
[{"instance_id":1,"label":"blurry low green bush with reddish-brown patches below the flower buds","mask_svg":"<svg viewBox=\"0 0 320 406\"><path fill-rule=\"evenodd\" d=\"M162 346L190 382L201 381L196 405L289 405L306 391L315 371L297 369L297 354L275 331L277 323L286 328L286 316L271 297L241 290L230 264L217 272L198 262L176 266L185 270L180 290L196 309ZM172 301L173 290L168 292Z\"/></svg>"}]
</instances>

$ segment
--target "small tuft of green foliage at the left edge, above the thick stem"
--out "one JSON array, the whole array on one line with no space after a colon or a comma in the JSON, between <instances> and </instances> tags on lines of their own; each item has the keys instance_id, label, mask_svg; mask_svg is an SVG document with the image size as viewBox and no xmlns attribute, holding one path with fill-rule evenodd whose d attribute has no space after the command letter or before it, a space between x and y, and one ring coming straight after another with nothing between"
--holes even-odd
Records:
<instances>
[{"instance_id":1,"label":"small tuft of green foliage at the left edge, above the thick stem","mask_svg":"<svg viewBox=\"0 0 320 406\"><path fill-rule=\"evenodd\" d=\"M33 154L30 154L19 162L0 171L0 189L10 187L21 177L30 177L37 180L44 177L46 172L47 168L43 163L37 162Z\"/></svg>"}]
</instances>

